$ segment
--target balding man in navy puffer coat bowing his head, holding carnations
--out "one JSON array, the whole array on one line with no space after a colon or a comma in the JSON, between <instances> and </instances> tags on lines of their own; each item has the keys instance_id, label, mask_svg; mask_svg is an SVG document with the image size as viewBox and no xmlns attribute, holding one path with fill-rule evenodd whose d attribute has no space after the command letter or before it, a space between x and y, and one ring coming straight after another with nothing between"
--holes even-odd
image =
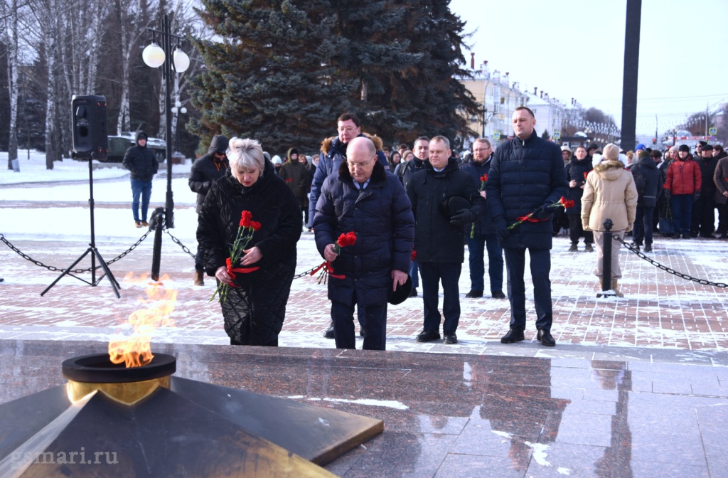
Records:
<instances>
[{"instance_id":1,"label":"balding man in navy puffer coat bowing his head, holding carnations","mask_svg":"<svg viewBox=\"0 0 728 478\"><path fill-rule=\"evenodd\" d=\"M402 184L377 160L368 138L353 138L338 175L325 179L313 219L316 247L331 262L328 278L336 348L355 348L354 306L363 312L366 350L385 350L389 293L407 281L414 216ZM353 246L333 250L341 234Z\"/></svg>"}]
</instances>

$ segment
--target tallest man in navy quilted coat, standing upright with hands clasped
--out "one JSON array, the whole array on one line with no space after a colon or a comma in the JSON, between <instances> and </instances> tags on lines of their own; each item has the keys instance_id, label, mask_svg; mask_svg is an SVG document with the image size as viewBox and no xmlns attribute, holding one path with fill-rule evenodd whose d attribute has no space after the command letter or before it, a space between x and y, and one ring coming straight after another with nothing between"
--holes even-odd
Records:
<instances>
[{"instance_id":1,"label":"tallest man in navy quilted coat, standing upright with hands clasped","mask_svg":"<svg viewBox=\"0 0 728 478\"><path fill-rule=\"evenodd\" d=\"M566 195L568 183L561 150L556 144L539 138L534 130L536 118L526 106L513 112L515 138L499 146L488 174L486 193L488 209L496 223L496 234L505 251L510 299L510 331L502 343L523 340L526 328L526 249L531 258L534 281L537 339L542 345L556 345L551 336L551 254L553 226L549 207ZM534 213L530 220L509 229Z\"/></svg>"}]
</instances>

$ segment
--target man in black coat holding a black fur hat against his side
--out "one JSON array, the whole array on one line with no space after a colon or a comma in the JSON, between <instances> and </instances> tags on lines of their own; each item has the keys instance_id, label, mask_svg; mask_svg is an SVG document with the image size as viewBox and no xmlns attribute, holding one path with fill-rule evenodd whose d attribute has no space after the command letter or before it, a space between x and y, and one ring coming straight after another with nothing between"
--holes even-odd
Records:
<instances>
[{"instance_id":1,"label":"man in black coat holding a black fur hat against his side","mask_svg":"<svg viewBox=\"0 0 728 478\"><path fill-rule=\"evenodd\" d=\"M438 289L442 282L443 335L446 344L454 344L460 320L458 281L465 259L465 230L486 213L486 200L475 179L452 157L448 138L432 138L428 152L424 170L412 175L407 188L416 219L414 248L424 302L424 327L417 342L440 339Z\"/></svg>"}]
</instances>

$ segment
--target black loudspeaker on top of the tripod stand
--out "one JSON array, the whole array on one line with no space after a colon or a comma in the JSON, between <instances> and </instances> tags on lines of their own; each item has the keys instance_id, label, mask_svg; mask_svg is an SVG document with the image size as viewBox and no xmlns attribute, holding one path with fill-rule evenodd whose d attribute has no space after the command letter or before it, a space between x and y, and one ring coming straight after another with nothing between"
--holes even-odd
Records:
<instances>
[{"instance_id":1,"label":"black loudspeaker on top of the tripod stand","mask_svg":"<svg viewBox=\"0 0 728 478\"><path fill-rule=\"evenodd\" d=\"M103 160L108 157L105 96L76 96L71 100L74 123L74 157Z\"/></svg>"}]
</instances>

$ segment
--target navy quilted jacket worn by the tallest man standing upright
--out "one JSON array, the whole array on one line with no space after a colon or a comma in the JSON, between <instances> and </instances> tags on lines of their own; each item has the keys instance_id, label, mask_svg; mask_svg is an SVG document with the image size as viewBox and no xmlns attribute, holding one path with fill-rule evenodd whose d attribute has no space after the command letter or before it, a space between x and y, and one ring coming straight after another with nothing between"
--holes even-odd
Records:
<instances>
[{"instance_id":1,"label":"navy quilted jacket worn by the tallest man standing upright","mask_svg":"<svg viewBox=\"0 0 728 478\"><path fill-rule=\"evenodd\" d=\"M505 227L542 205L557 203L568 187L561 149L534 131L525 141L513 138L496 150L486 184L488 209L496 227ZM550 249L552 234L551 219L523 222L501 246Z\"/></svg>"}]
</instances>

